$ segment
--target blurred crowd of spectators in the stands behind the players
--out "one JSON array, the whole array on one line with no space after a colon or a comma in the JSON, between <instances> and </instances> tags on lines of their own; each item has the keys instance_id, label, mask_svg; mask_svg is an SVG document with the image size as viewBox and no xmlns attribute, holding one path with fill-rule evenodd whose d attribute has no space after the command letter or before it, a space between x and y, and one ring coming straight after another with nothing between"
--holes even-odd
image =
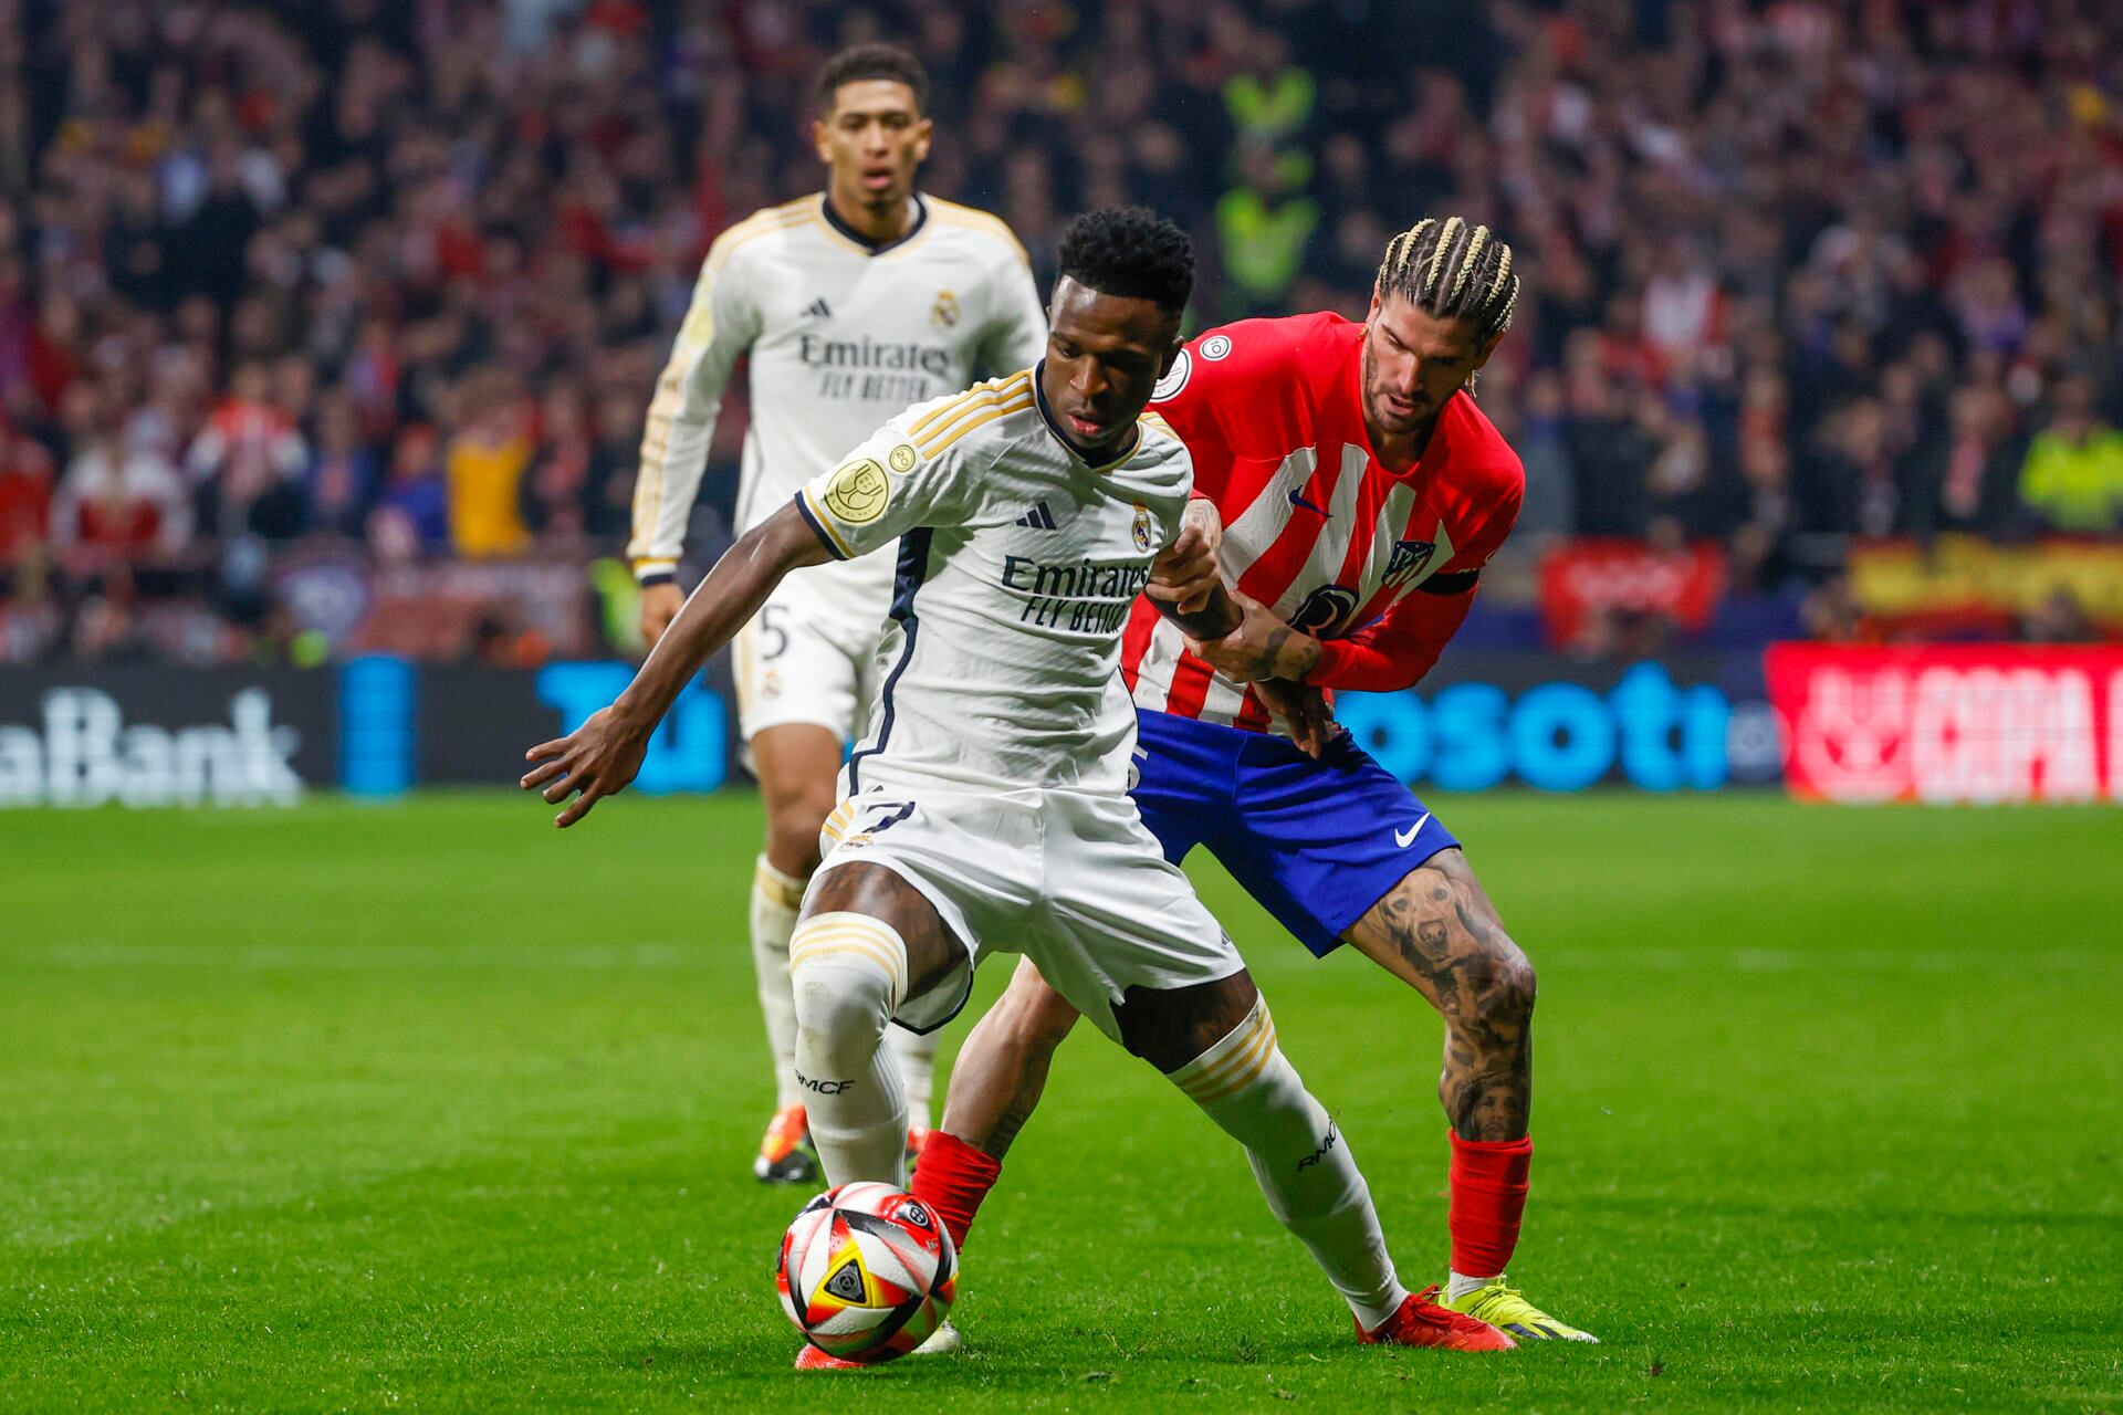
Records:
<instances>
[{"instance_id":1,"label":"blurred crowd of spectators in the stands behind the players","mask_svg":"<svg viewBox=\"0 0 2123 1415\"><path fill-rule=\"evenodd\" d=\"M1832 630L1853 539L2123 530L2102 0L0 0L0 662L293 653L318 545L616 554L701 255L815 187L860 38L1042 282L1081 208L1191 225L1193 327L1495 225L1520 556L1711 541Z\"/></svg>"}]
</instances>

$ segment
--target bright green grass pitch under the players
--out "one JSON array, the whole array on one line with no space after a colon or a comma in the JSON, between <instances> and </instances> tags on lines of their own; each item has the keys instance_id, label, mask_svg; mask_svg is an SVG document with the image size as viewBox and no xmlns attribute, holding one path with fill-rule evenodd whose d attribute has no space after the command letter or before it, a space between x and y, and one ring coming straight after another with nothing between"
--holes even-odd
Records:
<instances>
[{"instance_id":1,"label":"bright green grass pitch under the players","mask_svg":"<svg viewBox=\"0 0 2123 1415\"><path fill-rule=\"evenodd\" d=\"M0 813L0 1404L2123 1409L2115 810L1433 804L1541 969L1514 1275L1601 1347L1359 1349L1085 1027L968 1351L828 1394L747 1173L756 802L469 796ZM1442 1279L1437 1020L1195 874Z\"/></svg>"}]
</instances>

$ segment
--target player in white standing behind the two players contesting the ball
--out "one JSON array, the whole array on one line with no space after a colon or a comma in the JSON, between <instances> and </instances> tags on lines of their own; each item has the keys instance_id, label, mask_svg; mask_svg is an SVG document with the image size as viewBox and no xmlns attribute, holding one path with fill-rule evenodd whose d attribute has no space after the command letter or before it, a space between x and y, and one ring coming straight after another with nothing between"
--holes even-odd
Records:
<instances>
[{"instance_id":1,"label":"player in white standing behind the two players contesting the ball","mask_svg":"<svg viewBox=\"0 0 2123 1415\"><path fill-rule=\"evenodd\" d=\"M707 252L641 437L628 554L650 645L684 602L675 569L686 520L741 356L752 359L752 426L739 532L786 507L894 412L1038 359L1047 320L1008 227L915 191L930 151L926 100L928 78L902 49L834 55L819 72L811 127L826 191L752 214ZM790 1069L790 929L817 868L845 745L860 736L873 698L890 594L890 556L817 566L786 579L735 645L739 732L766 804L749 910L777 1076L775 1118L754 1160L766 1182L817 1177ZM913 1150L930 1120L936 1040L894 1029L892 1046Z\"/></svg>"}]
</instances>

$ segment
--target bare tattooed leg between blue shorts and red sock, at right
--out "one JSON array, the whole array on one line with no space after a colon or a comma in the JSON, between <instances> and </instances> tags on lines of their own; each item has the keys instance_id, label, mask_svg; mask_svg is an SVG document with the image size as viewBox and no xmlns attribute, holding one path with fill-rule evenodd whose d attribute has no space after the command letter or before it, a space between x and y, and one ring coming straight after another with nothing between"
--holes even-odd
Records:
<instances>
[{"instance_id":1,"label":"bare tattooed leg between blue shorts and red sock, at right","mask_svg":"<svg viewBox=\"0 0 2123 1415\"><path fill-rule=\"evenodd\" d=\"M1533 963L1467 868L1439 851L1342 936L1446 1018L1437 1099L1461 1139L1520 1139L1533 1110Z\"/></svg>"}]
</instances>

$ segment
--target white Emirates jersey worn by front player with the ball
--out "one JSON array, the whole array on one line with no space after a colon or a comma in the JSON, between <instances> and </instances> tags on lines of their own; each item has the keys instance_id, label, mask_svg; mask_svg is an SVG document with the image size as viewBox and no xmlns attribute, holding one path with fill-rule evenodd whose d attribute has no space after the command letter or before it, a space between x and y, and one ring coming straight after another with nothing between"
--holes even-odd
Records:
<instances>
[{"instance_id":1,"label":"white Emirates jersey worn by front player with the ball","mask_svg":"<svg viewBox=\"0 0 2123 1415\"><path fill-rule=\"evenodd\" d=\"M890 666L847 796L1125 793L1121 630L1191 488L1157 414L1117 462L1085 465L1053 431L1038 369L909 407L813 477L796 505L834 556L900 545Z\"/></svg>"}]
</instances>

